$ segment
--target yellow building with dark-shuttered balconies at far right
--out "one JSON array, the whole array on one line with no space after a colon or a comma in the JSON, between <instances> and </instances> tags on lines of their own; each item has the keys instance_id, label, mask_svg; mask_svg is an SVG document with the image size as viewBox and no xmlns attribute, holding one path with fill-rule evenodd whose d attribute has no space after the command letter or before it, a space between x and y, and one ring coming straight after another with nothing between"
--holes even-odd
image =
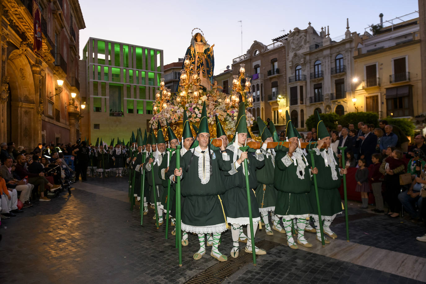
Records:
<instances>
[{"instance_id":1,"label":"yellow building with dark-shuttered balconies at far right","mask_svg":"<svg viewBox=\"0 0 426 284\"><path fill-rule=\"evenodd\" d=\"M383 21L382 21L383 22ZM354 53L355 106L380 118L424 112L418 11L377 25Z\"/></svg>"}]
</instances>

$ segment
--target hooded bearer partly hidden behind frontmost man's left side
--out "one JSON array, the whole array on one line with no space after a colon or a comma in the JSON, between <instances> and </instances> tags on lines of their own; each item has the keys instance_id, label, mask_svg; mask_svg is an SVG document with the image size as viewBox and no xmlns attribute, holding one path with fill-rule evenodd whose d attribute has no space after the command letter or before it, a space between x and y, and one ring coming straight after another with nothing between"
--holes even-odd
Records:
<instances>
[{"instance_id":1,"label":"hooded bearer partly hidden behind frontmost man's left side","mask_svg":"<svg viewBox=\"0 0 426 284\"><path fill-rule=\"evenodd\" d=\"M191 132L191 126L189 125L189 120L187 117L187 112L186 110L184 110L184 114L183 114L183 127L182 127L182 148L180 149L180 155L181 158L183 157L183 155L185 155L186 152L188 152L188 150L190 149L192 143L194 142L194 137L193 134ZM168 123L167 123L168 125ZM169 131L173 131L171 128L169 129L170 126L167 126L167 131L169 133ZM173 133L173 132L172 132ZM169 137L170 137L171 133L169 133ZM174 133L173 133L174 135ZM176 137L176 136L175 136ZM176 217L176 202L175 202L175 198L176 198L176 183L175 183L175 175L174 175L174 169L176 168L176 152L173 153L172 158L170 160L170 164L169 167L167 168L167 173L166 173L166 178L170 179L171 185L172 187L170 188L170 202L171 202L171 206L170 206L170 215L173 217ZM181 204L183 204L184 202L184 197L181 196ZM172 218L172 226L176 225L176 218ZM176 227L173 229L172 231L172 235L176 235ZM207 239L207 243L208 243L208 239ZM188 242L188 233L185 231L182 231L182 246L186 247L189 244ZM208 246L208 244L207 244Z\"/></svg>"}]
</instances>

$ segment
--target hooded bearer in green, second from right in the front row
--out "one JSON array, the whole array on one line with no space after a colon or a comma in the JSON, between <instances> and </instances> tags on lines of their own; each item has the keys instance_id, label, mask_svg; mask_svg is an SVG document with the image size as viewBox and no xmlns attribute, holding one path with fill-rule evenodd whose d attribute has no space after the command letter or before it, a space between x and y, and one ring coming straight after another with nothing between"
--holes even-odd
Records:
<instances>
[{"instance_id":1,"label":"hooded bearer in green, second from right in the front row","mask_svg":"<svg viewBox=\"0 0 426 284\"><path fill-rule=\"evenodd\" d=\"M317 173L318 169L310 166L304 152L300 149L298 132L291 122L288 111L285 112L287 125L285 129L286 140L290 145L277 146L275 155L274 186L278 189L275 213L282 217L287 244L290 248L298 249L297 244L312 247L304 236L309 213L312 212L309 192L311 191L311 171ZM293 239L291 224L296 220L298 234L297 244Z\"/></svg>"}]
</instances>

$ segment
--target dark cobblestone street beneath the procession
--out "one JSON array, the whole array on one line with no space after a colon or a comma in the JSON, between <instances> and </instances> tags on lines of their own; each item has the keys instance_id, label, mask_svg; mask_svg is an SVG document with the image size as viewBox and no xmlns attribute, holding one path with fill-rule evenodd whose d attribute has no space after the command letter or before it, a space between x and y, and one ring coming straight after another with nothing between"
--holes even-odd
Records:
<instances>
[{"instance_id":1,"label":"dark cobblestone street beneath the procession","mask_svg":"<svg viewBox=\"0 0 426 284\"><path fill-rule=\"evenodd\" d=\"M130 211L126 178L89 178L74 186L71 196L63 192L50 202L36 203L17 217L2 220L1 283L201 283L194 279L209 275L219 265L210 257L210 247L201 260L193 260L199 245L196 236L190 235L189 246L182 249L183 266L178 267L175 238L169 233L164 239L165 225L155 228L153 210L144 216L144 226L138 210ZM415 240L424 233L422 224L358 207L356 203L350 206L349 243L342 215L332 225L338 238L325 248L307 232L314 247L291 250L285 245L285 234L274 231L269 236L262 230L256 242L271 249L257 257L257 266L249 257L231 275L216 275L209 283L426 281L426 243ZM227 231L219 250L229 255L231 248ZM240 244L240 258L242 251ZM237 265L236 260L220 263L231 264Z\"/></svg>"}]
</instances>

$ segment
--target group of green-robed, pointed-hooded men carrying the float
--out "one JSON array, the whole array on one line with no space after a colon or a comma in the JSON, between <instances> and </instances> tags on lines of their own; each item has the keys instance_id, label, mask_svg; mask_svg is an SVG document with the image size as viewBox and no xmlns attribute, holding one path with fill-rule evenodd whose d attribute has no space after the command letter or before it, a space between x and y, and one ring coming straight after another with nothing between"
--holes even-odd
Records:
<instances>
[{"instance_id":1,"label":"group of green-robed, pointed-hooded men carrying the float","mask_svg":"<svg viewBox=\"0 0 426 284\"><path fill-rule=\"evenodd\" d=\"M205 103L201 113L199 129L194 125L196 132L194 140L190 129L187 113L183 113L183 133L177 138L172 128L167 123L169 147L175 148L181 143L181 167L176 169L176 151L173 152L170 163L167 164L169 151L165 150L164 135L158 122L158 133L155 137L151 129L149 135L145 130L144 138L138 130L136 145L137 150L132 154L131 168L135 171L135 198L140 200L141 177L145 171L146 182L144 189L143 214L148 213L148 203L158 212L158 224L164 222L166 201L171 202L170 216L176 217L175 206L175 181L176 176L181 177L181 230L182 245L188 245L188 233L198 235L199 250L193 255L200 259L206 252L207 246L212 246L210 255L219 261L226 261L227 256L219 252L219 239L222 232L227 230L228 223L233 241L230 255L238 257L239 242L246 243L245 251L252 252L251 239L243 233L247 225L250 232L248 198L246 191L246 177L244 160L248 159L248 182L250 186L251 211L253 229L256 234L258 223L262 222L266 233L273 235L273 231L285 233L287 244L292 249L298 245L312 247L305 236L305 230L317 234L316 239L321 241L320 220L318 217L317 199L314 190L312 174L317 174L317 187L320 196L320 209L322 213L323 231L331 238L336 234L330 225L337 214L342 212L341 198L338 188L344 169L338 166L338 159L330 147L330 137L324 123L316 112L318 144L314 145L314 164L310 155L300 148L301 138L286 112L286 136L290 142L288 147L276 146L268 149L268 142L278 142L279 138L273 123L270 128L261 118L257 118L259 135L262 138L261 149L251 149L242 152L239 147L245 146L248 135L244 102L240 103L236 120L236 129L233 140L227 143L227 138L222 125L216 116L216 137L222 139L220 148L210 144L210 134L207 123ZM155 146L156 147L153 147ZM324 149L322 145L325 144ZM132 145L136 149L135 145ZM153 150L153 152L151 152ZM150 158L153 154L153 158ZM146 162L143 157L146 157ZM153 163L153 166L151 166ZM154 171L155 190L152 190ZM171 181L170 197L167 198L167 180ZM154 203L156 194L157 204ZM271 215L272 226L269 223ZM172 226L176 219L171 217ZM313 219L314 227L309 225L309 218ZM154 217L155 218L155 215ZM280 225L280 221L284 227ZM292 227L296 229L297 237L292 234ZM175 229L172 235L175 235ZM325 238L325 244L329 244ZM257 255L266 254L262 248L255 247Z\"/></svg>"}]
</instances>

